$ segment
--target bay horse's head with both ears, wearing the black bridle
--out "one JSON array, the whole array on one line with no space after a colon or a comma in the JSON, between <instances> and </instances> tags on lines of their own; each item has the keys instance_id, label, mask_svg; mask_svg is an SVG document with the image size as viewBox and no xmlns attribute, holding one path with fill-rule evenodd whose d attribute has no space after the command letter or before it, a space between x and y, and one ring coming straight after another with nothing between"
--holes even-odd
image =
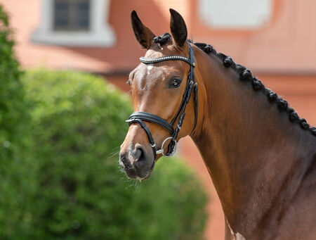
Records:
<instances>
[{"instance_id":1,"label":"bay horse's head with both ears, wearing the black bridle","mask_svg":"<svg viewBox=\"0 0 316 240\"><path fill-rule=\"evenodd\" d=\"M150 177L157 159L171 156L178 139L197 125L194 52L182 16L173 9L170 13L171 34L159 37L143 25L136 11L131 13L133 32L147 51L129 75L134 113L127 121L130 127L119 163L135 179Z\"/></svg>"}]
</instances>

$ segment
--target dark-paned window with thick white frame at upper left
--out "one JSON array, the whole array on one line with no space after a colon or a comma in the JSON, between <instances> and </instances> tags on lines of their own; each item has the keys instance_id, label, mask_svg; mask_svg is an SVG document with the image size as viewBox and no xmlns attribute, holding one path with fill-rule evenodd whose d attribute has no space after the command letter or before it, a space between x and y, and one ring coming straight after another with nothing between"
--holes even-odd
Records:
<instances>
[{"instance_id":1,"label":"dark-paned window with thick white frame at upper left","mask_svg":"<svg viewBox=\"0 0 316 240\"><path fill-rule=\"evenodd\" d=\"M41 0L41 24L32 41L62 46L112 46L110 0Z\"/></svg>"}]
</instances>

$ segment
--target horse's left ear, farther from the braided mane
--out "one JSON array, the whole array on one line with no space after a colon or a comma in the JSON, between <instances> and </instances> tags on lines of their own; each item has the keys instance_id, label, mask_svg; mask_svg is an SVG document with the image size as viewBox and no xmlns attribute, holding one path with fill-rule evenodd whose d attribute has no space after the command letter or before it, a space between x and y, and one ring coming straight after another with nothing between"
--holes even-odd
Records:
<instances>
[{"instance_id":1,"label":"horse's left ear, farther from the braided mane","mask_svg":"<svg viewBox=\"0 0 316 240\"><path fill-rule=\"evenodd\" d=\"M145 49L149 49L152 46L152 39L156 37L152 31L147 28L138 18L136 11L131 12L131 24L137 41Z\"/></svg>"}]
</instances>

